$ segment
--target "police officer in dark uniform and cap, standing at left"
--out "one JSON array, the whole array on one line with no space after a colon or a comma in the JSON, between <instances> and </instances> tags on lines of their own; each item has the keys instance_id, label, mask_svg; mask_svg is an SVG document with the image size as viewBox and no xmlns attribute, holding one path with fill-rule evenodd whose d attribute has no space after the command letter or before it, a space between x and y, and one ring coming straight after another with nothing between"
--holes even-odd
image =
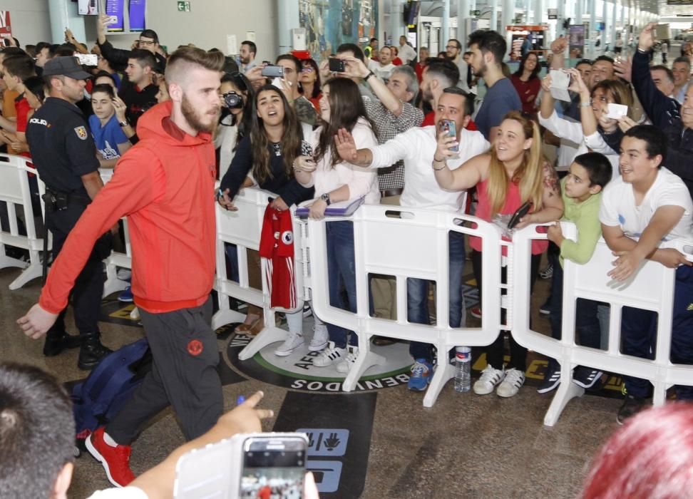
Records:
<instances>
[{"instance_id":1,"label":"police officer in dark uniform and cap, standing at left","mask_svg":"<svg viewBox=\"0 0 693 499\"><path fill-rule=\"evenodd\" d=\"M103 187L98 173L96 146L84 115L75 105L84 98L90 75L75 57L56 57L43 67L48 98L26 128L34 165L46 184L46 228L53 235L53 259L58 257L68 233L97 192ZM78 367L92 369L111 352L101 344L98 315L103 294L103 264L111 252L108 232L94 246L72 292L75 325L79 336L66 334L65 310L46 334L43 354L58 355L80 346ZM70 258L69 254L63 258Z\"/></svg>"}]
</instances>

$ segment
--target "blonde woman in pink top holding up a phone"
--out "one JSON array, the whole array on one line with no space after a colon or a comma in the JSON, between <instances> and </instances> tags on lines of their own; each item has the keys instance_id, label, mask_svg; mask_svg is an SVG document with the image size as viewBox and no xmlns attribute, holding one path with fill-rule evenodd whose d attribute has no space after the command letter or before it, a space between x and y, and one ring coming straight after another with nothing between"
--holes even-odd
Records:
<instances>
[{"instance_id":1,"label":"blonde woman in pink top holding up a phone","mask_svg":"<svg viewBox=\"0 0 693 499\"><path fill-rule=\"evenodd\" d=\"M563 215L558 175L541 155L539 127L525 114L512 111L505 115L493 147L486 154L471 158L456 170L449 170L446 158L453 153L455 138L438 135L438 148L433 155L438 185L447 190L463 190L476 185L478 207L476 216L487 221L496 215L511 215L524 202L533 205L517 225L518 229L530 224L553 222ZM481 240L470 237L473 248L472 263L481 295ZM541 253L547 241L532 245L532 285L536 278ZM510 336L510 362L503 369L503 334L486 351L486 369L474 384L474 393L486 395L497 385L496 393L510 397L518 393L525 382L527 349Z\"/></svg>"}]
</instances>

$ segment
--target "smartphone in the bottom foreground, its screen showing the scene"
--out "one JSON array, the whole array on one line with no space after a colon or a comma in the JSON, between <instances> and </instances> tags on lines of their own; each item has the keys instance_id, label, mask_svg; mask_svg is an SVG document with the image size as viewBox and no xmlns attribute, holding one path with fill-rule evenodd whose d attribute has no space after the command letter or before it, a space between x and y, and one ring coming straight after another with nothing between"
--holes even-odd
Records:
<instances>
[{"instance_id":1,"label":"smartphone in the bottom foreground, its screen showing the scene","mask_svg":"<svg viewBox=\"0 0 693 499\"><path fill-rule=\"evenodd\" d=\"M248 436L243 442L240 498L303 495L308 439L302 433Z\"/></svg>"}]
</instances>

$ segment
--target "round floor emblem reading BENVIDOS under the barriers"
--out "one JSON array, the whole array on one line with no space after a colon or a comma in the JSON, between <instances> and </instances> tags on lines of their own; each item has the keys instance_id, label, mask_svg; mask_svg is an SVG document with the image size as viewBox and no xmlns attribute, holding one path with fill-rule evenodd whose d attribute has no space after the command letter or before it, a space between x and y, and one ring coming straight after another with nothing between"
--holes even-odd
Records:
<instances>
[{"instance_id":1,"label":"round floor emblem reading BENVIDOS under the barriers","mask_svg":"<svg viewBox=\"0 0 693 499\"><path fill-rule=\"evenodd\" d=\"M266 346L252 359L240 361L238 354L250 343L252 337L237 334L227 347L230 363L242 374L266 383L284 388L309 392L341 392L345 374L337 372L337 364L327 367L314 366L314 360L321 355L319 351L309 351L308 342L291 355L279 357L274 349L279 343ZM386 363L373 366L361 377L354 391L370 391L399 386L409 381L409 344L396 343L389 346L371 346L374 353L384 356Z\"/></svg>"}]
</instances>

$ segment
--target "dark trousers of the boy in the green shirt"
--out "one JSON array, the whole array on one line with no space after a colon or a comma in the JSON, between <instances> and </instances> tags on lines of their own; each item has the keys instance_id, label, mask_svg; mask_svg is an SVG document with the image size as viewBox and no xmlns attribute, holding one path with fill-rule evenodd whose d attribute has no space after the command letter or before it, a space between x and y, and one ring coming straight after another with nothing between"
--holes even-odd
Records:
<instances>
[{"instance_id":1,"label":"dark trousers of the boy in the green shirt","mask_svg":"<svg viewBox=\"0 0 693 499\"><path fill-rule=\"evenodd\" d=\"M553 266L553 281L551 282L551 336L561 338L561 326L563 324L563 267L560 262ZM601 346L601 328L597 318L597 307L600 302L590 299L578 298L575 306L575 337L580 340L580 345L598 349ZM549 360L549 372L558 369L555 359Z\"/></svg>"}]
</instances>

